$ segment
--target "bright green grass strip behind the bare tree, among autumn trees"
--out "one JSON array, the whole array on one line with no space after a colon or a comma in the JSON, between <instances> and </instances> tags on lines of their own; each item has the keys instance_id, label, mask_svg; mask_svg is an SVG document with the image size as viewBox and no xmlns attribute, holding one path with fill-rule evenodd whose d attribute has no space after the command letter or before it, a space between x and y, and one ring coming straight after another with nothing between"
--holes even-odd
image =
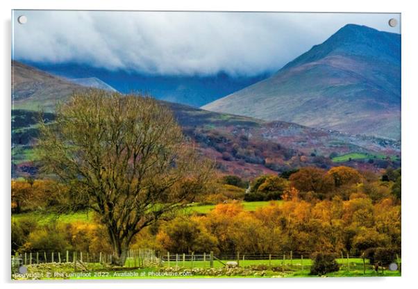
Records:
<instances>
[{"instance_id":1,"label":"bright green grass strip behind the bare tree, among autumn trees","mask_svg":"<svg viewBox=\"0 0 418 289\"><path fill-rule=\"evenodd\" d=\"M279 204L283 201L277 201ZM244 206L244 210L256 210L257 208L261 208L263 206L268 206L270 201L242 201L242 205ZM201 213L207 214L215 208L216 205L199 205L199 204L192 204L185 208L185 213ZM19 213L19 214L12 214L12 220L19 221L22 217L28 217L32 220L37 220L38 224L48 224L53 220L63 223L72 223L77 221L82 222L92 222L93 215L92 213L87 212L77 212L72 214L61 214L57 215L56 213L47 213L47 212L28 212L28 213Z\"/></svg>"}]
</instances>

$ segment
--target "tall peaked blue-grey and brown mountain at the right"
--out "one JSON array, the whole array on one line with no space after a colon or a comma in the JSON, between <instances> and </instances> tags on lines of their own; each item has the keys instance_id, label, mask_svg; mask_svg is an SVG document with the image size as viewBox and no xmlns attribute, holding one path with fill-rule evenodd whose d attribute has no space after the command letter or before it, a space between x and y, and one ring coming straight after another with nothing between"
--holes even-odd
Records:
<instances>
[{"instance_id":1,"label":"tall peaked blue-grey and brown mountain at the right","mask_svg":"<svg viewBox=\"0 0 418 289\"><path fill-rule=\"evenodd\" d=\"M268 79L202 108L400 140L401 35L348 24Z\"/></svg>"}]
</instances>

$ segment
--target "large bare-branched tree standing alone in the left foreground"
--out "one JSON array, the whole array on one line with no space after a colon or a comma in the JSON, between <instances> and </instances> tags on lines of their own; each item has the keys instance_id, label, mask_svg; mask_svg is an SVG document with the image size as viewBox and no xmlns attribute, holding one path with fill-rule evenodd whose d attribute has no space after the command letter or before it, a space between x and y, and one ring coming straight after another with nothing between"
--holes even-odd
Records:
<instances>
[{"instance_id":1,"label":"large bare-branched tree standing alone in the left foreground","mask_svg":"<svg viewBox=\"0 0 418 289\"><path fill-rule=\"evenodd\" d=\"M74 207L94 210L106 226L115 265L135 234L172 217L203 192L212 165L199 160L166 106L140 95L74 93L40 122L42 170L69 186Z\"/></svg>"}]
</instances>

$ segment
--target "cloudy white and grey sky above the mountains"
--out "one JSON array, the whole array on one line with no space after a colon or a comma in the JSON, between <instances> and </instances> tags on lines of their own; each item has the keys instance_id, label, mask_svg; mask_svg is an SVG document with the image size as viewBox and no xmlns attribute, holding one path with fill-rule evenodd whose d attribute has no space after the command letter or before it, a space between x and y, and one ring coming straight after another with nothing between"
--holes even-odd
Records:
<instances>
[{"instance_id":1,"label":"cloudy white and grey sky above the mountains","mask_svg":"<svg viewBox=\"0 0 418 289\"><path fill-rule=\"evenodd\" d=\"M391 18L398 26L388 25ZM345 24L401 32L399 14L15 10L12 58L149 75L254 76L277 71Z\"/></svg>"}]
</instances>

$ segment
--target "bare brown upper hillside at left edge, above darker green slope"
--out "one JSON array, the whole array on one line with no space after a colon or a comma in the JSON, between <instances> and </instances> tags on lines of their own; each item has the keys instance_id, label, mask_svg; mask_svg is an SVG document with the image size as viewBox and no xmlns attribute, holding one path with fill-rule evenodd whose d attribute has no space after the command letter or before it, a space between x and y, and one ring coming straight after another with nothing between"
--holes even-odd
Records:
<instances>
[{"instance_id":1,"label":"bare brown upper hillside at left edge, above darker green slope","mask_svg":"<svg viewBox=\"0 0 418 289\"><path fill-rule=\"evenodd\" d=\"M66 79L12 61L12 108L51 111L58 101L83 89Z\"/></svg>"}]
</instances>

